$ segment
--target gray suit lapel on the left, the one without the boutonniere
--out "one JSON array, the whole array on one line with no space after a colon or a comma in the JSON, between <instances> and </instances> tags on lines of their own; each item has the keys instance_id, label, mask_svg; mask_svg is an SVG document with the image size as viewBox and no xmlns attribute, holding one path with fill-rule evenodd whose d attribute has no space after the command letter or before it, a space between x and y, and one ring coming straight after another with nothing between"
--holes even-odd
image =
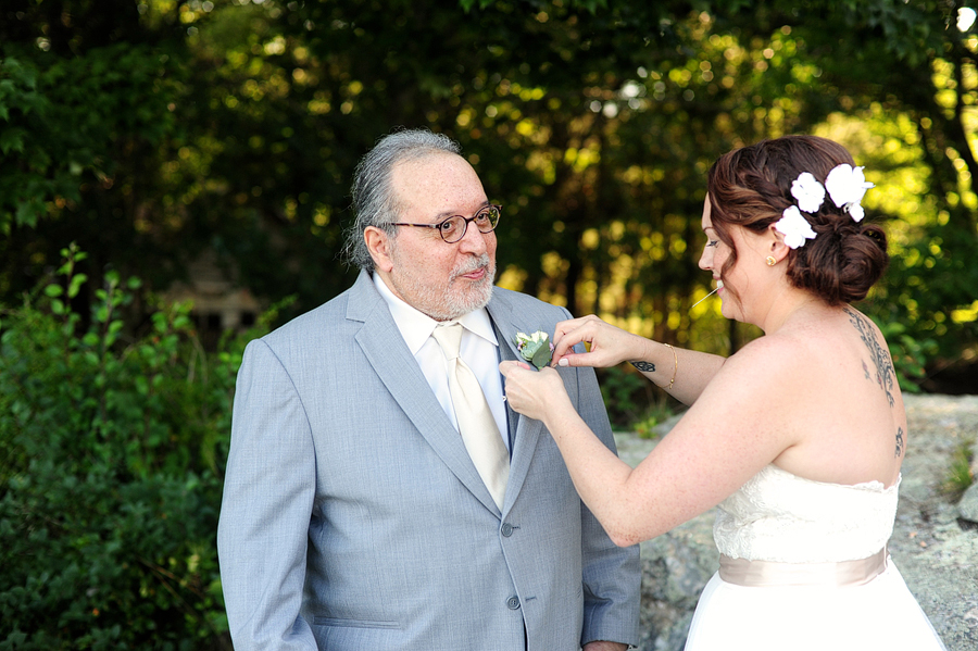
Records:
<instances>
[{"instance_id":1,"label":"gray suit lapel on the left, the one without the boutonniere","mask_svg":"<svg viewBox=\"0 0 978 651\"><path fill-rule=\"evenodd\" d=\"M351 288L347 318L363 323L354 339L367 362L436 454L488 509L498 512L465 443L428 387L417 361L369 274L361 272Z\"/></svg>"}]
</instances>

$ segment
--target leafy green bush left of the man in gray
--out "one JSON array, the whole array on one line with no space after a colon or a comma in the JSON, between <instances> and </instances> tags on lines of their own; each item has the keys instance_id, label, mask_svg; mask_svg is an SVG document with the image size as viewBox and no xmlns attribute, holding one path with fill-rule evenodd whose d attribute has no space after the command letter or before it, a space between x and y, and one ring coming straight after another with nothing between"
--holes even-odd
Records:
<instances>
[{"instance_id":1,"label":"leafy green bush left of the man in gray","mask_svg":"<svg viewBox=\"0 0 978 651\"><path fill-rule=\"evenodd\" d=\"M193 346L187 308L128 342L138 281L105 274L91 325L72 247L0 330L0 649L227 643L216 521L241 349Z\"/></svg>"}]
</instances>

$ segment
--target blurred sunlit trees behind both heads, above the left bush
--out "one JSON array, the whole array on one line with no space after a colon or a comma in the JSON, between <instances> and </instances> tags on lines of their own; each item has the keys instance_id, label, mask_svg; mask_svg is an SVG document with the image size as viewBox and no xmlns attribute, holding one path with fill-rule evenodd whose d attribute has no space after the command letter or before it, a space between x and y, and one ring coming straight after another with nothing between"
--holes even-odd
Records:
<instances>
[{"instance_id":1,"label":"blurred sunlit trees behind both heads, above the left bush","mask_svg":"<svg viewBox=\"0 0 978 651\"><path fill-rule=\"evenodd\" d=\"M503 286L726 353L740 330L715 302L689 310L711 281L695 265L705 172L816 132L877 185L866 208L893 255L879 314L906 328L892 343L907 388L978 348L978 38L955 29L955 3L9 4L4 300L75 240L141 291L208 252L264 303L296 296L288 318L351 283L338 253L359 158L429 127L505 206Z\"/></svg>"}]
</instances>

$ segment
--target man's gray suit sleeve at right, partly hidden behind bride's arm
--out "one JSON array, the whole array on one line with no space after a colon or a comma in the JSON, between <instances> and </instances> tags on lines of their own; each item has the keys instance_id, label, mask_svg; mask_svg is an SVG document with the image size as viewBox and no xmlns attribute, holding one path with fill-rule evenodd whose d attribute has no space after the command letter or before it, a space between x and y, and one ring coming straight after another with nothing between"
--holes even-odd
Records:
<instances>
[{"instance_id":1,"label":"man's gray suit sleeve at right, partly hidden behind bride's arm","mask_svg":"<svg viewBox=\"0 0 978 651\"><path fill-rule=\"evenodd\" d=\"M572 318L569 313L567 318ZM598 438L617 452L593 368L578 368L576 375L578 413ZM607 640L637 646L641 591L639 546L617 547L584 503L580 509L585 590L580 643Z\"/></svg>"}]
</instances>

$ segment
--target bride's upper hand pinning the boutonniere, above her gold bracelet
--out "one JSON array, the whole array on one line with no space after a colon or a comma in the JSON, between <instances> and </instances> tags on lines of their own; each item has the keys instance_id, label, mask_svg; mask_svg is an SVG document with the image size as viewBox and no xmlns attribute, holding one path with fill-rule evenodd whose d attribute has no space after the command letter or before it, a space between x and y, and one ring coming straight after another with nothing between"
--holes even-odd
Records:
<instances>
[{"instance_id":1,"label":"bride's upper hand pinning the boutonniere, above her gold bracelet","mask_svg":"<svg viewBox=\"0 0 978 651\"><path fill-rule=\"evenodd\" d=\"M574 352L586 342L589 352ZM649 340L601 321L593 314L556 324L553 333L554 366L594 366L604 368L625 361L644 359Z\"/></svg>"}]
</instances>

